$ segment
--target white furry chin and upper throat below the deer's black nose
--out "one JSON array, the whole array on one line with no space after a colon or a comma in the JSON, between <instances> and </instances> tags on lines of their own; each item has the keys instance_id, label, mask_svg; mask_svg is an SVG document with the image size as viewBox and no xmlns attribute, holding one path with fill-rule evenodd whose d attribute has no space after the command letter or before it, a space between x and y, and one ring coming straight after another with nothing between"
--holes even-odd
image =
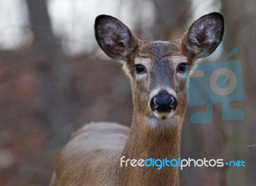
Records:
<instances>
[{"instance_id":1,"label":"white furry chin and upper throat below the deer's black nose","mask_svg":"<svg viewBox=\"0 0 256 186\"><path fill-rule=\"evenodd\" d=\"M182 122L182 118L175 111L166 113L153 112L150 116L146 116L144 120L150 127L160 129L174 127L177 123Z\"/></svg>"}]
</instances>

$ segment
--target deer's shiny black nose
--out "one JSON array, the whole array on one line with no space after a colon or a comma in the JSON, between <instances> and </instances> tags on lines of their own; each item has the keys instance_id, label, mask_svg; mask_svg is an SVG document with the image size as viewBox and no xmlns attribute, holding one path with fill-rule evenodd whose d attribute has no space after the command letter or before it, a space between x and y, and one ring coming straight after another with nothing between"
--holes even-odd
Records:
<instances>
[{"instance_id":1,"label":"deer's shiny black nose","mask_svg":"<svg viewBox=\"0 0 256 186\"><path fill-rule=\"evenodd\" d=\"M150 100L150 108L157 112L171 112L177 107L177 99L170 95L167 91L159 92Z\"/></svg>"}]
</instances>

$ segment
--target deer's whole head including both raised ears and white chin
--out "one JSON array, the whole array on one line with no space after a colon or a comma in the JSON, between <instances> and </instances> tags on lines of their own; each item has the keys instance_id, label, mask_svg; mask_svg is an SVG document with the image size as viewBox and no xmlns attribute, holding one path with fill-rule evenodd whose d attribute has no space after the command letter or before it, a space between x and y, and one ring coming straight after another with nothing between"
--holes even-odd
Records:
<instances>
[{"instance_id":1,"label":"deer's whole head including both raised ears and white chin","mask_svg":"<svg viewBox=\"0 0 256 186\"><path fill-rule=\"evenodd\" d=\"M100 48L122 62L131 80L134 112L151 127L182 122L188 66L216 49L223 30L223 16L210 13L196 20L179 40L147 42L114 17L100 15L95 20Z\"/></svg>"}]
</instances>

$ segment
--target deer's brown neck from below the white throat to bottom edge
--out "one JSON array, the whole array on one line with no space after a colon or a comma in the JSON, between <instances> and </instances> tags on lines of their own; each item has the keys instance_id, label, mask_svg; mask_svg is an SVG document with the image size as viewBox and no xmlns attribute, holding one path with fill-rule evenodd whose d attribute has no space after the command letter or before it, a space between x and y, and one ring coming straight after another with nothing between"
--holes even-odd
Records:
<instances>
[{"instance_id":1,"label":"deer's brown neck from below the white throat to bottom edge","mask_svg":"<svg viewBox=\"0 0 256 186\"><path fill-rule=\"evenodd\" d=\"M163 123L159 123L159 125ZM182 122L170 128L152 128L140 116L134 114L130 136L122 153L125 159L178 159L180 155L180 132ZM134 185L161 183L161 185L179 185L179 168L163 167L125 167L123 176ZM136 181L131 181L136 180ZM147 184L146 184L147 185Z\"/></svg>"}]
</instances>

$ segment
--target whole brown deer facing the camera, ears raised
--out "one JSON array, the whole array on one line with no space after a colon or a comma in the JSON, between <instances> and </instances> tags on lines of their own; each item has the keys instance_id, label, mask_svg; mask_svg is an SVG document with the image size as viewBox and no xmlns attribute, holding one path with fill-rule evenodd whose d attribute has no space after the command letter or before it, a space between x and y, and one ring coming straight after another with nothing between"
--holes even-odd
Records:
<instances>
[{"instance_id":1,"label":"whole brown deer facing the camera, ears raised","mask_svg":"<svg viewBox=\"0 0 256 186\"><path fill-rule=\"evenodd\" d=\"M131 82L131 128L98 122L74 132L56 157L50 185L179 185L179 167L134 162L180 157L187 77L221 42L223 15L200 17L174 41L140 40L109 15L99 15L94 27L99 47L120 61Z\"/></svg>"}]
</instances>

